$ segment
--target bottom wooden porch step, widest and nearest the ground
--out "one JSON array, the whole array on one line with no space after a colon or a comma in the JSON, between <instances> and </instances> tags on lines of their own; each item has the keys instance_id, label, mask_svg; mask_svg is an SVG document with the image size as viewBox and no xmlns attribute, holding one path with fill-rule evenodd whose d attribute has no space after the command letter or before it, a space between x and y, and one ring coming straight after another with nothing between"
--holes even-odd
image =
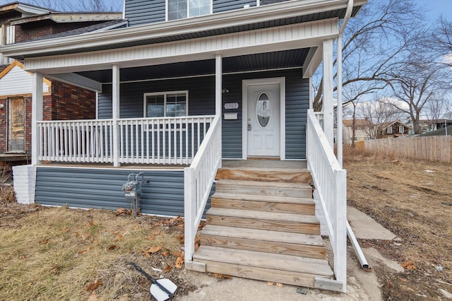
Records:
<instances>
[{"instance_id":1,"label":"bottom wooden porch step, widest and nearest the ground","mask_svg":"<svg viewBox=\"0 0 452 301\"><path fill-rule=\"evenodd\" d=\"M205 263L206 271L211 273L310 288L314 288L315 277L333 278L326 259L201 245L194 261Z\"/></svg>"}]
</instances>

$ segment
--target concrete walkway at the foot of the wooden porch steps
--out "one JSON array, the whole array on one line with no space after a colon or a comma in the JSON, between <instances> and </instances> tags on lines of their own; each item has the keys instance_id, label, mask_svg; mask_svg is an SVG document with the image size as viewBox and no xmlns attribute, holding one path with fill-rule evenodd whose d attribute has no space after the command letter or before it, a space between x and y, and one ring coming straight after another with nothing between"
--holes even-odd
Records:
<instances>
[{"instance_id":1,"label":"concrete walkway at the foot of the wooden porch steps","mask_svg":"<svg viewBox=\"0 0 452 301\"><path fill-rule=\"evenodd\" d=\"M357 238L369 240L398 240L396 235L383 228L375 220L355 208L349 207L347 218ZM396 271L403 268L395 261L381 256L376 249L363 249L370 267L388 266ZM265 281L254 281L234 277L232 279L218 279L206 273L185 271L196 283L198 290L186 296L177 297L177 300L256 300L256 301L292 301L292 300L381 300L380 283L375 273L363 271L355 256L352 247L348 249L347 258L347 293L335 293L312 288L299 288L292 285L269 285Z\"/></svg>"}]
</instances>

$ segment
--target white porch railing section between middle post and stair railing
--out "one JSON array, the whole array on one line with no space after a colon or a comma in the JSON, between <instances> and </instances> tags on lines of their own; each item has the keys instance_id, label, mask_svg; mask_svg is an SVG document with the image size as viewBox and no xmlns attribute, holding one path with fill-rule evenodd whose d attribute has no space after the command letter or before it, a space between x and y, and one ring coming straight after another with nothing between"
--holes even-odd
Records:
<instances>
[{"instance_id":1,"label":"white porch railing section between middle post and stair railing","mask_svg":"<svg viewBox=\"0 0 452 301\"><path fill-rule=\"evenodd\" d=\"M188 165L213 118L120 119L119 163Z\"/></svg>"}]
</instances>

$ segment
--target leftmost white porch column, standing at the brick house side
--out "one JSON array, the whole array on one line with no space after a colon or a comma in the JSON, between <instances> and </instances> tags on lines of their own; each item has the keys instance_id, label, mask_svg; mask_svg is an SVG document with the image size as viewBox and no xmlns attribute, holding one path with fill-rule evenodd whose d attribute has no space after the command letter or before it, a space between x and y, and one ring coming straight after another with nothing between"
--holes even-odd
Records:
<instances>
[{"instance_id":1,"label":"leftmost white porch column, standing at the brick house side","mask_svg":"<svg viewBox=\"0 0 452 301\"><path fill-rule=\"evenodd\" d=\"M44 98L42 97L42 82L44 76L42 73L34 72L32 74L32 110L31 110L31 164L41 163L38 156L41 153L41 133L37 128L37 122L42 121L42 107Z\"/></svg>"}]
</instances>

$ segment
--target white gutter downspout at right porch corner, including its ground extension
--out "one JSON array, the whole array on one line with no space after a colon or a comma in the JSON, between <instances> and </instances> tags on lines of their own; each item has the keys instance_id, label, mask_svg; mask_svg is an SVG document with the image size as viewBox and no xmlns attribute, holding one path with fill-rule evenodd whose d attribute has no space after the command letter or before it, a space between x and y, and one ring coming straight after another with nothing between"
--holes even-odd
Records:
<instances>
[{"instance_id":1,"label":"white gutter downspout at right porch corner, including its ground extension","mask_svg":"<svg viewBox=\"0 0 452 301\"><path fill-rule=\"evenodd\" d=\"M342 112L342 35L345 30L345 26L348 23L348 20L352 16L353 9L353 0L348 0L347 3L347 11L345 11L345 17L342 25L340 26L339 35L338 35L338 105L336 106L337 113L337 131L336 131L336 142L338 146L338 162L340 167L343 167L343 112ZM362 252L361 247L355 237L355 233L353 233L352 227L347 220L347 236L350 242L352 242L352 246L355 249L355 253L358 257L359 263L361 264L362 269L369 270L369 264L367 263L366 257Z\"/></svg>"}]
</instances>

